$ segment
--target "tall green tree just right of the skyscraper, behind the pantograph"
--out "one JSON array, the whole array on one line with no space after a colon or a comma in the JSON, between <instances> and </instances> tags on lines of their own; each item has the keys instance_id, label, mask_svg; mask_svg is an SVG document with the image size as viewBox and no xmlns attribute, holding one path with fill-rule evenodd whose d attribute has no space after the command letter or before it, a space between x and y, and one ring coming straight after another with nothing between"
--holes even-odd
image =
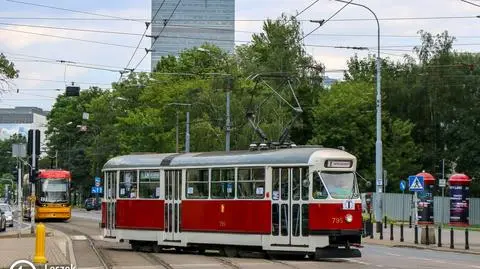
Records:
<instances>
[{"instance_id":1,"label":"tall green tree just right of the skyscraper, behind the pantograph","mask_svg":"<svg viewBox=\"0 0 480 269\"><path fill-rule=\"evenodd\" d=\"M237 61L240 72L245 77L255 74L271 74L277 77L265 79L272 88L276 89L282 97L293 106L297 106L295 98L288 85L282 84L285 78L289 77L289 83L297 96L300 105L303 107L298 121L292 128L292 140L299 144L306 143L312 136L312 107L318 100L318 92L322 90L323 66L315 62L312 56L308 55L303 45L303 32L300 22L295 17L288 17L285 14L276 20L267 20L263 24L263 32L254 34L252 42L237 48ZM265 111L275 111L268 122L275 123L278 131L275 136L282 133L283 126L288 124L296 112L285 103L278 101L278 97L272 96L272 91L262 84L259 84L252 91L253 104L261 104L269 98L269 102L263 103ZM264 115L265 116L265 115Z\"/></svg>"}]
</instances>

